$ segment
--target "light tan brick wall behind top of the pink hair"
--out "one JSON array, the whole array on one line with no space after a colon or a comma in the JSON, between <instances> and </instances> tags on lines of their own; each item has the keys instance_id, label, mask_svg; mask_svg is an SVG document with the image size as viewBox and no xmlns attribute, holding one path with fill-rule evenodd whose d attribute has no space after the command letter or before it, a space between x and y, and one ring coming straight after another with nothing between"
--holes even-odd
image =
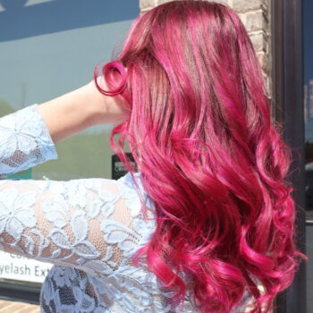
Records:
<instances>
[{"instance_id":1,"label":"light tan brick wall behind top of the pink hair","mask_svg":"<svg viewBox=\"0 0 313 313\"><path fill-rule=\"evenodd\" d=\"M158 4L170 0L140 0L141 13L152 9ZM272 95L272 55L271 55L271 0L220 0L230 5L241 17L258 55L258 60L266 80L266 90L269 97Z\"/></svg>"}]
</instances>

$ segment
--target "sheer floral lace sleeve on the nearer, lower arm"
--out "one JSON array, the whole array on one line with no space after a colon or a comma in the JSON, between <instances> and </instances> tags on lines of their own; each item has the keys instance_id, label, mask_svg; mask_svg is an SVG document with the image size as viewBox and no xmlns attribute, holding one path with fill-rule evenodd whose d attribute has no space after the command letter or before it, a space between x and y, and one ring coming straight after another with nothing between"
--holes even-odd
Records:
<instances>
[{"instance_id":1,"label":"sheer floral lace sleeve on the nearer, lower arm","mask_svg":"<svg viewBox=\"0 0 313 313\"><path fill-rule=\"evenodd\" d=\"M110 275L148 241L153 227L132 183L130 175L119 181L1 181L0 248Z\"/></svg>"}]
</instances>

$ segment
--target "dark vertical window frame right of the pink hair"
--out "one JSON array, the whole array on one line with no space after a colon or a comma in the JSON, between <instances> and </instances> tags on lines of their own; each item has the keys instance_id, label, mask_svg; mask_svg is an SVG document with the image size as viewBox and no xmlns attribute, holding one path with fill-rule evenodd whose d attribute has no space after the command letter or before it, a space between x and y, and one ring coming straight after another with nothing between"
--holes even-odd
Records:
<instances>
[{"instance_id":1,"label":"dark vertical window frame right of the pink hair","mask_svg":"<svg viewBox=\"0 0 313 313\"><path fill-rule=\"evenodd\" d=\"M303 116L303 19L302 0L273 0L272 57L274 118L283 123L284 140L292 147L290 180L296 203L296 244L306 253L304 116ZM276 313L306 312L306 263L303 261L292 285L280 294Z\"/></svg>"}]
</instances>

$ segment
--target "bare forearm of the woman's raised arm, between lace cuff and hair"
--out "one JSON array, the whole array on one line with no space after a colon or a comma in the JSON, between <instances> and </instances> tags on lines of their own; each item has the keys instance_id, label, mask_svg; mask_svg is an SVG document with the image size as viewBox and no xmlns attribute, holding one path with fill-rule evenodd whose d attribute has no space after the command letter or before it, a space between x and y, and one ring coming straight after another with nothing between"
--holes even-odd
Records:
<instances>
[{"instance_id":1,"label":"bare forearm of the woman's raised arm, between lace cuff and hair","mask_svg":"<svg viewBox=\"0 0 313 313\"><path fill-rule=\"evenodd\" d=\"M123 98L101 94L93 81L39 105L38 110L55 143L90 126L120 123L125 117Z\"/></svg>"}]
</instances>

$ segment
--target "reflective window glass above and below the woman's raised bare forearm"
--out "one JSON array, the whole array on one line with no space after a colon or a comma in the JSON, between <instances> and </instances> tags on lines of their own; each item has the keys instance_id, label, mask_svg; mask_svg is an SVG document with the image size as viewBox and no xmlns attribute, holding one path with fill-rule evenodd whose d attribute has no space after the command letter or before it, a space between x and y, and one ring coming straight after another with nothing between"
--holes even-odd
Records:
<instances>
[{"instance_id":1,"label":"reflective window glass above and below the woman's raised bare forearm","mask_svg":"<svg viewBox=\"0 0 313 313\"><path fill-rule=\"evenodd\" d=\"M140 13L138 0L95 0L92 5L89 0L0 0L0 4L4 8L0 116L92 80L95 65L114 58ZM31 178L111 178L111 129L93 127L57 144L58 160L36 166Z\"/></svg>"}]
</instances>

